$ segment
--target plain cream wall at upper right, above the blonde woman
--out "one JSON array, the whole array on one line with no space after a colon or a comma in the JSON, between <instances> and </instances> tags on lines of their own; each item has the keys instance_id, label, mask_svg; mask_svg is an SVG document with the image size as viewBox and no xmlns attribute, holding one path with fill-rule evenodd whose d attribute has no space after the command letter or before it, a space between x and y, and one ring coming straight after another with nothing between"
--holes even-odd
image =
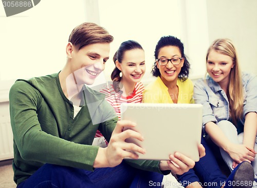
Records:
<instances>
[{"instance_id":1,"label":"plain cream wall at upper right, above the blonde woman","mask_svg":"<svg viewBox=\"0 0 257 188\"><path fill-rule=\"evenodd\" d=\"M209 40L230 38L243 71L257 75L257 1L208 0Z\"/></svg>"}]
</instances>

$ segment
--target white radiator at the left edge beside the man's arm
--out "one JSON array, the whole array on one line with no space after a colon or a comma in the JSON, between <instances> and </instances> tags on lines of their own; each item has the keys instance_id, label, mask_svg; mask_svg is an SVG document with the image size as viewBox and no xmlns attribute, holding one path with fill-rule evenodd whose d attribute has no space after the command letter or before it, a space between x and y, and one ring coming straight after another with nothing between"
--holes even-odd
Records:
<instances>
[{"instance_id":1,"label":"white radiator at the left edge beside the man's arm","mask_svg":"<svg viewBox=\"0 0 257 188\"><path fill-rule=\"evenodd\" d=\"M10 116L0 116L0 161L13 158Z\"/></svg>"}]
</instances>

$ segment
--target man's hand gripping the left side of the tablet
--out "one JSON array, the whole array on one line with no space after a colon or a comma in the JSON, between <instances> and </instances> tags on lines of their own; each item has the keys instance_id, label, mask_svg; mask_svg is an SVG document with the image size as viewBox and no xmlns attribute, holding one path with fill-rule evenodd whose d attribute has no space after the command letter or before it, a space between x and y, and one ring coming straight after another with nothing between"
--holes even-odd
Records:
<instances>
[{"instance_id":1,"label":"man's hand gripping the left side of the tablet","mask_svg":"<svg viewBox=\"0 0 257 188\"><path fill-rule=\"evenodd\" d=\"M136 124L128 120L117 122L107 148L99 148L94 163L95 168L114 167L119 165L125 157L138 159L138 155L134 152L145 153L145 150L138 145L125 142L127 138L135 138L143 141L142 135L131 129L123 131L124 127L135 128Z\"/></svg>"}]
</instances>

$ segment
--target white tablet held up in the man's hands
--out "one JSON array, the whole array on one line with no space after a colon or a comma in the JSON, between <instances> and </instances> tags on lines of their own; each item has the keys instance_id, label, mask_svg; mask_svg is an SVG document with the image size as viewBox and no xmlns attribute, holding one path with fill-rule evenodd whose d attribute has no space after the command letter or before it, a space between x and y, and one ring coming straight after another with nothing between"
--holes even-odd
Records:
<instances>
[{"instance_id":1,"label":"white tablet held up in the man's hands","mask_svg":"<svg viewBox=\"0 0 257 188\"><path fill-rule=\"evenodd\" d=\"M122 103L121 120L137 123L136 131L144 141L128 138L146 150L139 159L169 160L180 152L194 161L199 160L203 106L200 104ZM124 128L124 130L127 128Z\"/></svg>"}]
</instances>

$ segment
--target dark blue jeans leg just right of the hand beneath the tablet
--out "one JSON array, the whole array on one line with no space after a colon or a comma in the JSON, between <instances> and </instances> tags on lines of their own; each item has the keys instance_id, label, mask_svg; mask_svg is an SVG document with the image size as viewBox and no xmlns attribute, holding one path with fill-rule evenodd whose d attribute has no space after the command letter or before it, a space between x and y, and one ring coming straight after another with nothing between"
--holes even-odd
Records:
<instances>
[{"instance_id":1,"label":"dark blue jeans leg just right of the hand beneath the tablet","mask_svg":"<svg viewBox=\"0 0 257 188\"><path fill-rule=\"evenodd\" d=\"M195 163L193 169L187 173L177 175L178 182L184 187L195 181L201 182L202 186L220 188L227 180L227 177L219 169L216 158L209 148L204 137L201 138L201 144L205 147L206 155Z\"/></svg>"}]
</instances>

